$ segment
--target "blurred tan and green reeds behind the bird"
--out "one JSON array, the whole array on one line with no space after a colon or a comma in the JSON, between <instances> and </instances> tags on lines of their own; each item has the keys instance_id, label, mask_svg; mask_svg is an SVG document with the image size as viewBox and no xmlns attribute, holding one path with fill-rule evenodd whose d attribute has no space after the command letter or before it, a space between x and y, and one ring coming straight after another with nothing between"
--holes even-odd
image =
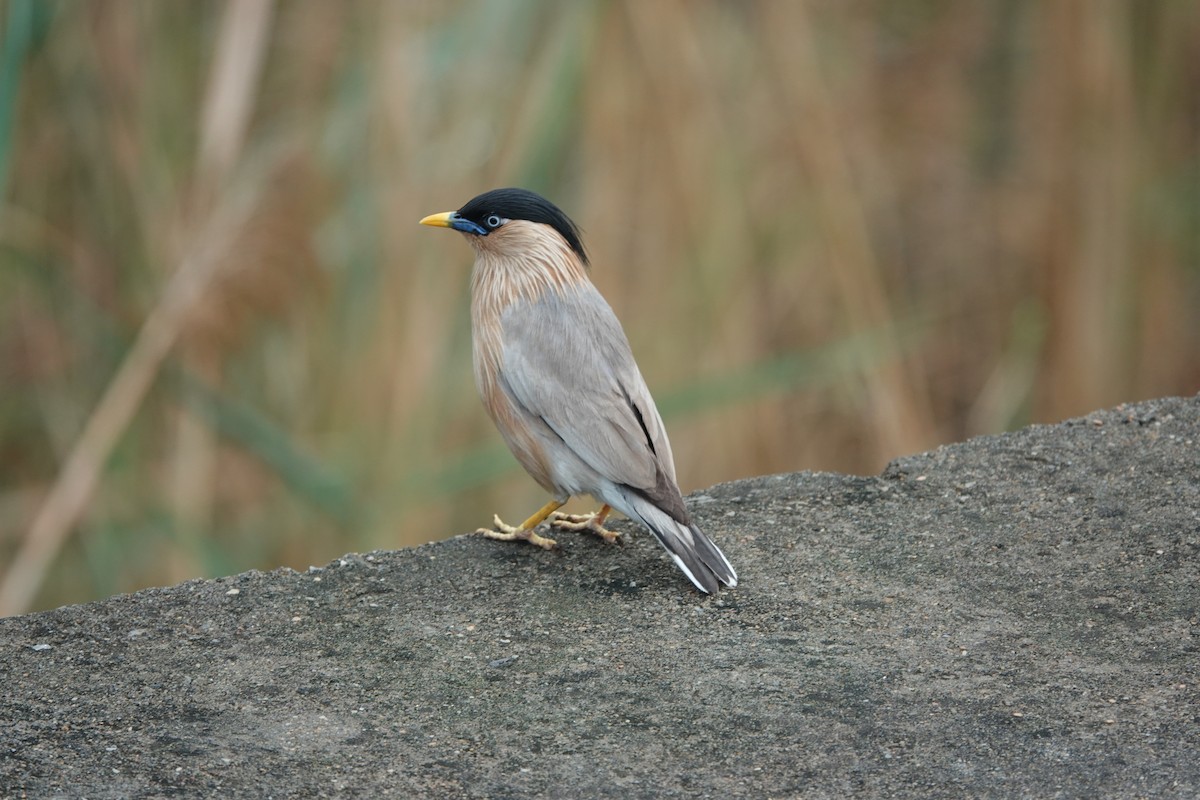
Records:
<instances>
[{"instance_id":1,"label":"blurred tan and green reeds behind the bird","mask_svg":"<svg viewBox=\"0 0 1200 800\"><path fill-rule=\"evenodd\" d=\"M416 224L496 186L685 492L1200 389L1190 0L0 7L5 613L538 507Z\"/></svg>"}]
</instances>

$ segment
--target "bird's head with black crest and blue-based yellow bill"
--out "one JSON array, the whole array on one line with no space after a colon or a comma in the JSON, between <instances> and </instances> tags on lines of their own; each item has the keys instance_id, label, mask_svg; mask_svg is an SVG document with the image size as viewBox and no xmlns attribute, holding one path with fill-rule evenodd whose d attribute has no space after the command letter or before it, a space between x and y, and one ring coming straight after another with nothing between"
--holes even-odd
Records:
<instances>
[{"instance_id":1,"label":"bird's head with black crest and blue-based yellow bill","mask_svg":"<svg viewBox=\"0 0 1200 800\"><path fill-rule=\"evenodd\" d=\"M422 225L452 228L472 246L497 255L516 255L529 247L530 239L560 239L586 265L578 227L546 198L523 188L497 188L473 198L457 211L432 213Z\"/></svg>"}]
</instances>

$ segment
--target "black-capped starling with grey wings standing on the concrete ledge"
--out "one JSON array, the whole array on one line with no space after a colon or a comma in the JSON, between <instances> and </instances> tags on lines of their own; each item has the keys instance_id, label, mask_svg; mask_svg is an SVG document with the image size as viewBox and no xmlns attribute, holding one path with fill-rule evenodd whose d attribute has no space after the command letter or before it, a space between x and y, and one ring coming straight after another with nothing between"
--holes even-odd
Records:
<instances>
[{"instance_id":1,"label":"black-capped starling with grey wings standing on the concrete ledge","mask_svg":"<svg viewBox=\"0 0 1200 800\"><path fill-rule=\"evenodd\" d=\"M520 525L496 515L494 528L476 533L554 549L535 530L548 521L620 542L604 528L616 509L649 529L702 593L736 587L737 572L684 505L662 419L617 315L592 283L578 225L524 188L484 192L421 224L457 230L475 252L475 385L509 450L551 495ZM600 509L558 511L583 494Z\"/></svg>"}]
</instances>

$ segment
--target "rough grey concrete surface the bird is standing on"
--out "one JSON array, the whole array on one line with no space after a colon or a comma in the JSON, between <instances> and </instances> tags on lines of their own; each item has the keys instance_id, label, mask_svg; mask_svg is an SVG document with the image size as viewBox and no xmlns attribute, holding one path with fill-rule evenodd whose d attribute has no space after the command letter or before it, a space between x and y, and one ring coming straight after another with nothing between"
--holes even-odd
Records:
<instances>
[{"instance_id":1,"label":"rough grey concrete surface the bird is standing on","mask_svg":"<svg viewBox=\"0 0 1200 800\"><path fill-rule=\"evenodd\" d=\"M0 795L1200 795L1200 398L689 503L0 620Z\"/></svg>"}]
</instances>

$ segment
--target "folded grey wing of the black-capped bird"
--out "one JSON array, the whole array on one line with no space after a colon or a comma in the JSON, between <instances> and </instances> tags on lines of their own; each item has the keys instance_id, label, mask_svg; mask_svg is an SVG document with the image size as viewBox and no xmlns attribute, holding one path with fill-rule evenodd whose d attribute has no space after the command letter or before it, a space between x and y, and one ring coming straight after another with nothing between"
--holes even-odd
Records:
<instances>
[{"instance_id":1,"label":"folded grey wing of the black-capped bird","mask_svg":"<svg viewBox=\"0 0 1200 800\"><path fill-rule=\"evenodd\" d=\"M548 291L502 318L506 391L614 483L678 497L671 444L625 332L594 287ZM673 504L668 504L673 505Z\"/></svg>"}]
</instances>

